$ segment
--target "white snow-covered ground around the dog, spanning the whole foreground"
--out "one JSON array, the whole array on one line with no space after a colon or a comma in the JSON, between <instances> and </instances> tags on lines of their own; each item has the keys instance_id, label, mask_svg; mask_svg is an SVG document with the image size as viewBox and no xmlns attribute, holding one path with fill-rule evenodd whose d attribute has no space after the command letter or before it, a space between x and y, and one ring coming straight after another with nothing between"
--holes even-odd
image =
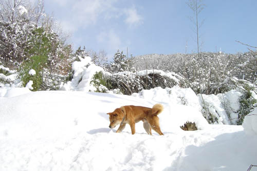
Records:
<instances>
[{"instance_id":1,"label":"white snow-covered ground around the dog, spanning the whole foreground","mask_svg":"<svg viewBox=\"0 0 257 171\"><path fill-rule=\"evenodd\" d=\"M242 126L209 125L197 107L175 100L162 103L164 136L147 135L142 122L135 135L130 126L120 134L108 128L106 113L117 107L161 103L147 98L151 91L144 91L145 98L5 91L0 98L0 170L247 170L257 165L257 128L246 127L252 130L248 135ZM186 121L196 122L200 130L181 130Z\"/></svg>"}]
</instances>

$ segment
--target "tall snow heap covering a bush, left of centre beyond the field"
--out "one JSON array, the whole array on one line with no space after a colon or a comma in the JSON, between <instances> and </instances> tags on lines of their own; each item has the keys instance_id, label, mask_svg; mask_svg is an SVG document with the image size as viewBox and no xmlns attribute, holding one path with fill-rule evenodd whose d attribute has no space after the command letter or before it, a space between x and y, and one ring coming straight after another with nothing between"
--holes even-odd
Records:
<instances>
[{"instance_id":1,"label":"tall snow heap covering a bush, left of centre beyond the field","mask_svg":"<svg viewBox=\"0 0 257 171\"><path fill-rule=\"evenodd\" d=\"M80 61L72 63L72 70L74 70L73 79L61 86L60 90L85 92L96 90L96 87L90 82L96 72L104 71L103 68L93 64L89 56L85 58L79 57L79 59Z\"/></svg>"}]
</instances>

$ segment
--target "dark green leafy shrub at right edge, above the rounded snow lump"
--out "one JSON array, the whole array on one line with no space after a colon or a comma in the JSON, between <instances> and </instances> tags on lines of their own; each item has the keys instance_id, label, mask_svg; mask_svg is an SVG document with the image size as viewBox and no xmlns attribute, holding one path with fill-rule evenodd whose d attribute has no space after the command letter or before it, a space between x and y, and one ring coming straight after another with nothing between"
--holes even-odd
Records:
<instances>
[{"instance_id":1,"label":"dark green leafy shrub at right edge, above the rounded snow lump","mask_svg":"<svg viewBox=\"0 0 257 171\"><path fill-rule=\"evenodd\" d=\"M240 100L240 110L238 112L237 125L242 125L244 118L256 106L257 100L252 97L250 90L247 90Z\"/></svg>"}]
</instances>

